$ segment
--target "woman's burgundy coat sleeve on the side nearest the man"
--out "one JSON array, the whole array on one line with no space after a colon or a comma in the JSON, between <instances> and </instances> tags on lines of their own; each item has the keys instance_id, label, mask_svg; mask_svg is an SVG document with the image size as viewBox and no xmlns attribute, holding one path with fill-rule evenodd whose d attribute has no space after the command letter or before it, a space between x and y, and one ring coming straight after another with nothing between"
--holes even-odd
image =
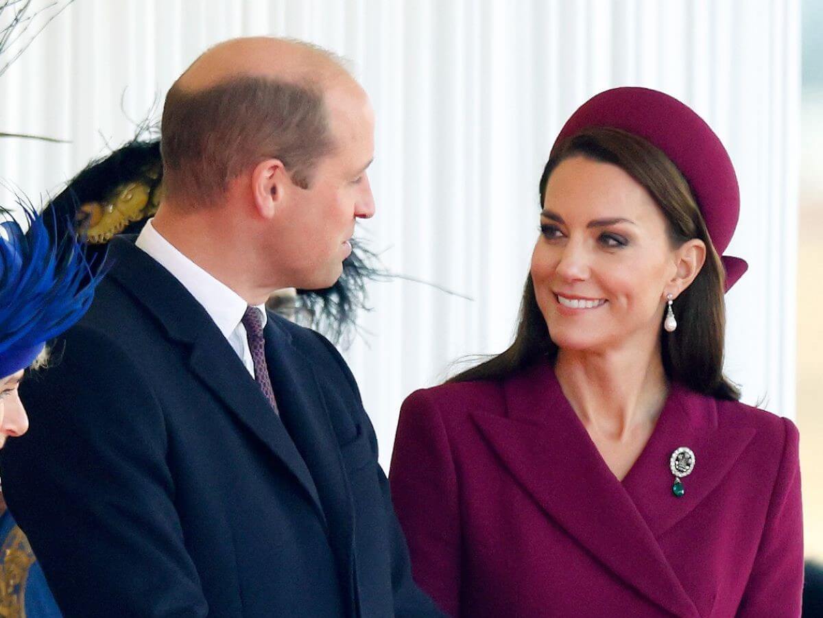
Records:
<instances>
[{"instance_id":1,"label":"woman's burgundy coat sleeve on the side nearest the man","mask_svg":"<svg viewBox=\"0 0 823 618\"><path fill-rule=\"evenodd\" d=\"M461 529L457 475L442 417L425 391L403 402L389 472L398 518L421 587L460 614Z\"/></svg>"}]
</instances>

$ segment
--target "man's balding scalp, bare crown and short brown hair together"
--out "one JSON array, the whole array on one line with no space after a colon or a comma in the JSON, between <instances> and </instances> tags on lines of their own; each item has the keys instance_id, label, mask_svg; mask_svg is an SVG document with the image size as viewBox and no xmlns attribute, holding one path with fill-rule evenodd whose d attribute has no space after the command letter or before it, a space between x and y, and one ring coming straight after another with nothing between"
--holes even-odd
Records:
<instances>
[{"instance_id":1,"label":"man's balding scalp, bare crown and short brown hair together","mask_svg":"<svg viewBox=\"0 0 823 618\"><path fill-rule=\"evenodd\" d=\"M283 162L308 186L335 144L329 91L360 90L332 53L291 39L231 39L208 49L166 95L166 195L189 206L218 201L259 161Z\"/></svg>"}]
</instances>

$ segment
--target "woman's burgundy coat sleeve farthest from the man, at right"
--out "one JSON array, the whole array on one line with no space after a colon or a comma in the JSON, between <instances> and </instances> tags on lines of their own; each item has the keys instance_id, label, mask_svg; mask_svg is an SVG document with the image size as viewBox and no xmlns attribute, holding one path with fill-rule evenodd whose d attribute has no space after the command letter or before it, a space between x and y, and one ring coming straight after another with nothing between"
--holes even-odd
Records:
<instances>
[{"instance_id":1,"label":"woman's burgundy coat sleeve farthest from the man, at right","mask_svg":"<svg viewBox=\"0 0 823 618\"><path fill-rule=\"evenodd\" d=\"M783 419L783 457L737 616L800 616L803 529L797 428Z\"/></svg>"}]
</instances>

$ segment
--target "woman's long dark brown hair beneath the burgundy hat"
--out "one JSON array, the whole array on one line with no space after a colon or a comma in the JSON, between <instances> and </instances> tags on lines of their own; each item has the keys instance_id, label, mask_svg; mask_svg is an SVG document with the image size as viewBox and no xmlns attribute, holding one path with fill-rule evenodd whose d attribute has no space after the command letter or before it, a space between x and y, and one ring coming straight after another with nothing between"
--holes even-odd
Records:
<instances>
[{"instance_id":1,"label":"woman's long dark brown hair beneath the burgundy hat","mask_svg":"<svg viewBox=\"0 0 823 618\"><path fill-rule=\"evenodd\" d=\"M540 207L546 184L560 163L572 156L617 165L641 184L667 221L672 247L689 239L706 245L706 260L695 280L674 302L677 330L664 332L661 315L663 369L672 382L698 392L736 401L739 389L723 375L726 311L725 271L689 184L668 157L642 137L615 128L588 128L557 144L540 179ZM554 362L558 348L537 306L532 276L526 280L514 343L499 355L449 379L449 382L502 379L537 362Z\"/></svg>"}]
</instances>

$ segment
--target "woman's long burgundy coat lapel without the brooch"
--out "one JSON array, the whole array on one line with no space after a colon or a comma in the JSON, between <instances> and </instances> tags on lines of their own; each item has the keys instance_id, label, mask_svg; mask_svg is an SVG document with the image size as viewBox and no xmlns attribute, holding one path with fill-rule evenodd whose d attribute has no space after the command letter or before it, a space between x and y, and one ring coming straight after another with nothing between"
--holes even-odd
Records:
<instances>
[{"instance_id":1,"label":"woman's long burgundy coat lapel without the brooch","mask_svg":"<svg viewBox=\"0 0 823 618\"><path fill-rule=\"evenodd\" d=\"M512 476L597 560L667 611L698 616L653 532L611 473L548 365L504 383L508 417L473 419ZM671 486L671 484L670 484Z\"/></svg>"}]
</instances>

